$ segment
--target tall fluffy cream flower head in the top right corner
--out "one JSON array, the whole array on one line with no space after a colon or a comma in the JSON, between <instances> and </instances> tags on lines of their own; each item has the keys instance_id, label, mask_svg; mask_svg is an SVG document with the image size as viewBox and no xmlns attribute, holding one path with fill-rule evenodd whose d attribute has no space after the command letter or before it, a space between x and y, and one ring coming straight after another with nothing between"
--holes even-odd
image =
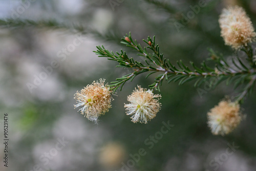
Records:
<instances>
[{"instance_id":1,"label":"tall fluffy cream flower head in the top right corner","mask_svg":"<svg viewBox=\"0 0 256 171\"><path fill-rule=\"evenodd\" d=\"M225 44L233 49L238 50L254 41L256 33L250 18L242 7L235 6L223 9L219 23Z\"/></svg>"}]
</instances>

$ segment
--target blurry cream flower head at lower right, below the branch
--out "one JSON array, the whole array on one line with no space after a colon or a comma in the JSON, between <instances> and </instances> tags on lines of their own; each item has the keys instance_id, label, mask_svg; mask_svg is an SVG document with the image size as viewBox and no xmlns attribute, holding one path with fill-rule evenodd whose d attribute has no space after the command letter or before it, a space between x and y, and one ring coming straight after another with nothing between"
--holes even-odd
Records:
<instances>
[{"instance_id":1,"label":"blurry cream flower head at lower right, below the branch","mask_svg":"<svg viewBox=\"0 0 256 171\"><path fill-rule=\"evenodd\" d=\"M224 136L232 132L242 120L240 105L230 100L222 100L207 115L208 126L214 135Z\"/></svg>"}]
</instances>

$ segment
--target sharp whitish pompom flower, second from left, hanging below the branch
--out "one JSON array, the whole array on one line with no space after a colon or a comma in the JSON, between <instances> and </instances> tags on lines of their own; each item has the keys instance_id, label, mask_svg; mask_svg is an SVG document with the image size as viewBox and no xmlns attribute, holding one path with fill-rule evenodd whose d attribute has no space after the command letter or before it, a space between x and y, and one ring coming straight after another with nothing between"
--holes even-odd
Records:
<instances>
[{"instance_id":1,"label":"sharp whitish pompom flower, second from left, hanging below the branch","mask_svg":"<svg viewBox=\"0 0 256 171\"><path fill-rule=\"evenodd\" d=\"M161 95L154 95L151 90L138 86L138 89L135 88L132 95L127 97L127 100L131 103L124 104L126 115L133 115L131 118L134 123L147 123L160 110L161 103L158 101L159 98L161 98Z\"/></svg>"}]
</instances>

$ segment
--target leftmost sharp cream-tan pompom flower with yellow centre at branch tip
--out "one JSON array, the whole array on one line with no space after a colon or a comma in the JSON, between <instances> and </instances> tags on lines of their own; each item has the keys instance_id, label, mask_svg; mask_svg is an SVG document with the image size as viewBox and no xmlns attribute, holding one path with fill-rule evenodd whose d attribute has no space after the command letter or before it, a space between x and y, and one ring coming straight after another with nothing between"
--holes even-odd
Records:
<instances>
[{"instance_id":1,"label":"leftmost sharp cream-tan pompom flower with yellow centre at branch tip","mask_svg":"<svg viewBox=\"0 0 256 171\"><path fill-rule=\"evenodd\" d=\"M111 108L111 91L107 85L104 86L104 81L93 81L74 95L77 103L75 108L81 106L78 111L91 121L97 121L99 115L104 115Z\"/></svg>"}]
</instances>

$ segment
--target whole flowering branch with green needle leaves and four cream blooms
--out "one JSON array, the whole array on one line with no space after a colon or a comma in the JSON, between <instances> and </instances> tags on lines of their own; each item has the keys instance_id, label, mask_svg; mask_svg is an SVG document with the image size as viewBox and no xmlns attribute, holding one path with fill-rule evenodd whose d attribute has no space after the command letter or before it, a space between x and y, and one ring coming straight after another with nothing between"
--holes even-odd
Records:
<instances>
[{"instance_id":1,"label":"whole flowering branch with green needle leaves and four cream blooms","mask_svg":"<svg viewBox=\"0 0 256 171\"><path fill-rule=\"evenodd\" d=\"M159 98L161 95L154 94L155 91L160 92L162 82L166 80L168 83L178 82L179 85L184 83L193 83L195 87L200 86L205 81L209 81L210 87L217 87L219 83L226 81L226 84L234 84L234 89L239 88L238 95L232 99L228 98L221 100L215 108L212 108L208 113L208 125L211 132L215 135L225 135L235 129L243 115L240 110L240 104L243 103L245 97L252 93L256 79L256 63L254 61L254 50L251 42L254 41L256 33L250 22L250 18L246 15L241 7L230 7L224 9L220 19L221 36L224 38L225 44L231 46L234 51L244 51L246 60L241 60L240 57L232 57L227 61L221 54L218 54L212 49L209 49L210 57L201 63L201 66L196 66L194 62L190 62L190 66L184 65L180 60L177 63L170 62L160 52L160 47L153 38L147 37L145 47L142 47L136 40L126 34L122 38L121 43L130 47L142 56L144 61L138 61L132 58L125 51L112 52L105 49L103 46L98 46L94 51L99 57L106 57L118 63L116 67L131 68L131 73L117 78L116 81L109 85L93 83L97 87L97 92L86 92L90 86L84 88L81 93L76 93L78 100L77 106L83 106L80 109L84 116L96 120L101 113L105 113L110 108L111 97L117 89L122 89L127 81L132 81L136 76L142 73L148 73L147 77L154 73L159 73L154 78L154 82L148 86L148 89L135 89L132 95L128 96L129 104L125 104L126 114L131 115L133 122L147 123L153 119L160 110L161 104ZM214 63L215 67L212 66ZM212 79L215 78L215 79ZM99 89L99 90L98 90ZM102 103L102 98L107 101L106 105L99 106ZM104 100L103 100L104 101ZM100 103L99 103L100 102ZM164 103L163 103L164 105ZM94 114L88 113L88 110ZM103 112L102 112L103 111ZM89 117L90 116L90 117Z\"/></svg>"}]
</instances>

